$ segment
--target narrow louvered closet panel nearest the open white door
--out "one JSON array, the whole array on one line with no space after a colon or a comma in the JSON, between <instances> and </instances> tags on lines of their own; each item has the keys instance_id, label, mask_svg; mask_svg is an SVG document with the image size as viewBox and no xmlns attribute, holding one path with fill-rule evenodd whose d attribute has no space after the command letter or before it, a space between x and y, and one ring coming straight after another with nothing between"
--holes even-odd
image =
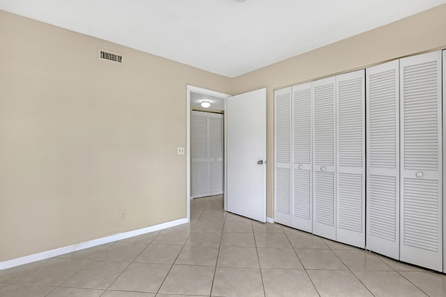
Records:
<instances>
[{"instance_id":1,"label":"narrow louvered closet panel nearest the open white door","mask_svg":"<svg viewBox=\"0 0 446 297\"><path fill-rule=\"evenodd\" d=\"M291 87L275 90L275 216L291 226Z\"/></svg>"}]
</instances>

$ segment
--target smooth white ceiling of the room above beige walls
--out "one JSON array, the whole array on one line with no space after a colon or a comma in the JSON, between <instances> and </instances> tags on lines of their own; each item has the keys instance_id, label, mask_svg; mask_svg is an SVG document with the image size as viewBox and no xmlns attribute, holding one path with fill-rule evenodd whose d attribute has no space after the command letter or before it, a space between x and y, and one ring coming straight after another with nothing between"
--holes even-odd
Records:
<instances>
[{"instance_id":1,"label":"smooth white ceiling of the room above beige walls","mask_svg":"<svg viewBox=\"0 0 446 297\"><path fill-rule=\"evenodd\" d=\"M0 9L226 77L446 0L0 0Z\"/></svg>"}]
</instances>

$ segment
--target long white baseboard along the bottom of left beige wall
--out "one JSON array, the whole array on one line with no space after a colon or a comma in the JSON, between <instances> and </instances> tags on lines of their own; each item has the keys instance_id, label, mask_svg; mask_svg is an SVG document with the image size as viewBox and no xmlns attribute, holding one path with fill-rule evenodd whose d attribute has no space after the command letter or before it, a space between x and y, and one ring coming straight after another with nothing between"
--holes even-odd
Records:
<instances>
[{"instance_id":1,"label":"long white baseboard along the bottom of left beige wall","mask_svg":"<svg viewBox=\"0 0 446 297\"><path fill-rule=\"evenodd\" d=\"M132 230L128 232L118 233L110 236L105 236L99 239L93 239L91 241L85 241L82 243L73 244L72 246L65 246L63 248L55 248L54 250L47 250L45 252L38 252L37 254L24 256L20 258L10 259L8 261L0 262L0 271L7 268L12 268L15 266L20 266L23 264L28 264L31 262L40 261L43 259L48 259L52 257L57 257L68 252L77 252L78 250L84 250L85 248L92 248L93 246L100 246L101 244L118 241L122 239L127 239L129 237L142 235L157 230L166 229L169 227L175 227L177 225L187 223L187 218L180 218L178 220L171 220L170 222L153 225L151 227L145 227L137 230Z\"/></svg>"}]
</instances>

